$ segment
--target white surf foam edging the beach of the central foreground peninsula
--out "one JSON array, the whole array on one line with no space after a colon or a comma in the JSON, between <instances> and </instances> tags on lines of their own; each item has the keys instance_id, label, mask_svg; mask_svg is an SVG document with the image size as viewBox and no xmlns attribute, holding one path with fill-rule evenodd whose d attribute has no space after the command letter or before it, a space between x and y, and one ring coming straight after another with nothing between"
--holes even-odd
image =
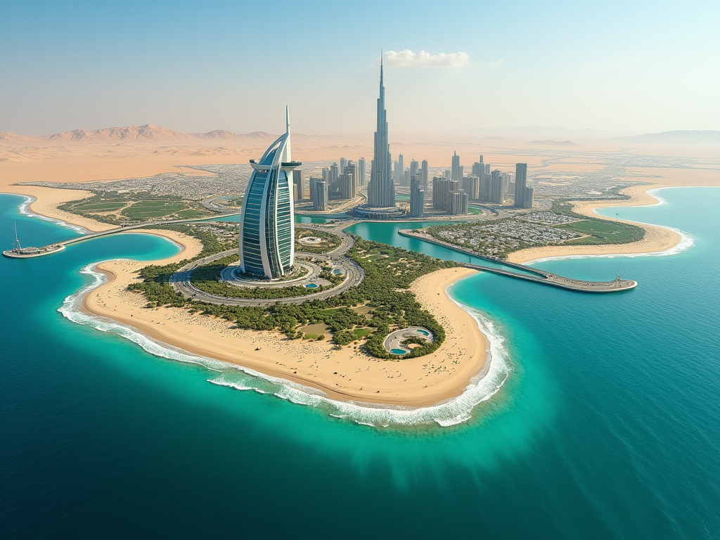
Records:
<instances>
[{"instance_id":1,"label":"white surf foam edging the beach of the central foreground peninsula","mask_svg":"<svg viewBox=\"0 0 720 540\"><path fill-rule=\"evenodd\" d=\"M230 387L235 390L255 390L263 394L272 393L281 399L320 408L320 410L325 410L329 415L336 418L346 418L367 426L414 426L434 422L447 427L462 423L472 417L472 410L476 405L490 399L495 392L500 390L513 370L508 353L505 346L503 346L505 340L496 333L492 322L479 311L453 300L456 305L467 310L477 321L478 328L487 336L490 345L490 356L487 359L490 364L487 372L473 377L462 395L436 405L420 408L333 400L327 397L324 392L315 388L306 387L279 377L271 377L246 367L189 354L180 348L169 346L166 343L159 343L138 332L138 330L117 323L112 319L86 315L80 310L83 297L92 289L107 282L104 274L96 271L94 266L95 264L90 264L81 269L81 274L92 276L93 281L68 296L62 307L58 309L69 320L78 324L89 325L103 332L116 333L118 336L137 343L145 351L155 356L198 364L212 371L220 372L217 377L208 379L208 382L212 384Z\"/></svg>"}]
</instances>

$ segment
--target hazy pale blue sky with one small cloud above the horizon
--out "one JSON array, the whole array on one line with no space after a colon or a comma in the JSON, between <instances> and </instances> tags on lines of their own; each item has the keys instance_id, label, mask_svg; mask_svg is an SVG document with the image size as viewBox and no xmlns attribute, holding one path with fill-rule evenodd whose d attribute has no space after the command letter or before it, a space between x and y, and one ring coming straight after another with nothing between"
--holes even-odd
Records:
<instances>
[{"instance_id":1,"label":"hazy pale blue sky with one small cloud above the horizon","mask_svg":"<svg viewBox=\"0 0 720 540\"><path fill-rule=\"evenodd\" d=\"M720 129L719 29L718 0L0 0L0 131L372 132L380 48L391 138Z\"/></svg>"}]
</instances>

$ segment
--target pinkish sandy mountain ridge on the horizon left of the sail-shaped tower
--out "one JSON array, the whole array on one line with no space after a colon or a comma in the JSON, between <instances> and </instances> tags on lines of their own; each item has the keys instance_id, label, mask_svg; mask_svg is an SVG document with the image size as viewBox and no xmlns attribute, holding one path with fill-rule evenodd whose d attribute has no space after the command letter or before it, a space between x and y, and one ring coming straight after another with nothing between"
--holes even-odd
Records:
<instances>
[{"instance_id":1,"label":"pinkish sandy mountain ridge on the horizon left of the sail-shaped tower","mask_svg":"<svg viewBox=\"0 0 720 540\"><path fill-rule=\"evenodd\" d=\"M233 133L226 130L215 130L207 133L184 133L181 131L168 130L153 124L125 127L105 127L102 130L73 130L53 135L17 135L11 132L1 132L0 141L6 143L30 143L37 140L68 140L68 141L96 141L105 140L167 140L167 141L191 141L197 139L218 139L218 140L266 140L275 138L276 135L264 131L253 131L251 133Z\"/></svg>"}]
</instances>

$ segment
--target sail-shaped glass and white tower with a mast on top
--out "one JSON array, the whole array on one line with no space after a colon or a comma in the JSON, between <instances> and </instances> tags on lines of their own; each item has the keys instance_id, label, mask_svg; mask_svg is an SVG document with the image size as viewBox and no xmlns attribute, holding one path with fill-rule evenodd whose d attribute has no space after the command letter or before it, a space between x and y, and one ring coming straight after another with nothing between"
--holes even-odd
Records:
<instances>
[{"instance_id":1,"label":"sail-shaped glass and white tower with a mast on top","mask_svg":"<svg viewBox=\"0 0 720 540\"><path fill-rule=\"evenodd\" d=\"M295 261L295 225L289 173L302 163L290 153L290 114L286 129L258 163L240 214L240 269L246 274L275 279L292 269Z\"/></svg>"}]
</instances>

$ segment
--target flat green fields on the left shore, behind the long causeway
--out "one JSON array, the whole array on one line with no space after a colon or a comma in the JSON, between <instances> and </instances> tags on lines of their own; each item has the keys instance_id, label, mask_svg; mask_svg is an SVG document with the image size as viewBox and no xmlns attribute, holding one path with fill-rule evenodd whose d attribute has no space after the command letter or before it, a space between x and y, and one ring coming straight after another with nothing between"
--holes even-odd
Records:
<instances>
[{"instance_id":1,"label":"flat green fields on the left shore, behind the long causeway","mask_svg":"<svg viewBox=\"0 0 720 540\"><path fill-rule=\"evenodd\" d=\"M148 192L103 192L87 199L70 201L58 206L96 221L112 225L133 225L154 219L192 219L211 215L197 201Z\"/></svg>"}]
</instances>

